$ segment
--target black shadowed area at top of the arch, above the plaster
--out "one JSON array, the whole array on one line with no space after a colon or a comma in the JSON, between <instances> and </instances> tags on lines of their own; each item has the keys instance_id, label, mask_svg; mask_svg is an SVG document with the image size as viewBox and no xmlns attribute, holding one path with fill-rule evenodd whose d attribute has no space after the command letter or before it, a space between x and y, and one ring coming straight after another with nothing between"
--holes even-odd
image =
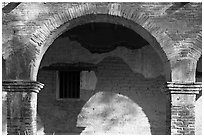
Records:
<instances>
[{"instance_id":1,"label":"black shadowed area at top of the arch, above the plaster","mask_svg":"<svg viewBox=\"0 0 204 137\"><path fill-rule=\"evenodd\" d=\"M117 46L139 49L148 44L140 35L122 25L111 23L88 23L74 27L60 37L78 41L92 53L104 53ZM59 37L59 38L60 38Z\"/></svg>"}]
</instances>

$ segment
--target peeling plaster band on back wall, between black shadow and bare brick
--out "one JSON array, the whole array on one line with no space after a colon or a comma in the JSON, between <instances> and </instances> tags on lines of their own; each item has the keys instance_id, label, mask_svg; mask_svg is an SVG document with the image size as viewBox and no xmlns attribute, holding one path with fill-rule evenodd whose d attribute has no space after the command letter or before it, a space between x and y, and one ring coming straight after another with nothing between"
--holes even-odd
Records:
<instances>
[{"instance_id":1,"label":"peeling plaster band on back wall, between black shadow and bare brick","mask_svg":"<svg viewBox=\"0 0 204 137\"><path fill-rule=\"evenodd\" d=\"M69 38L60 38L50 46L45 53L41 68L54 63L92 63L98 64L106 57L120 57L135 73L143 74L145 78L155 78L164 75L163 64L154 49L147 45L140 49L131 50L126 47L117 47L107 53L91 53L77 41Z\"/></svg>"}]
</instances>

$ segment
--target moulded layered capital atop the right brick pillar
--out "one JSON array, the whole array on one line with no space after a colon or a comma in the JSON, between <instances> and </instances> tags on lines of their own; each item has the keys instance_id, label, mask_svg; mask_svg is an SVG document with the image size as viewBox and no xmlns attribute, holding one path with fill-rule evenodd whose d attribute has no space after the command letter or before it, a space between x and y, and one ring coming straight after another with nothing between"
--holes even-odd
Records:
<instances>
[{"instance_id":1,"label":"moulded layered capital atop the right brick pillar","mask_svg":"<svg viewBox=\"0 0 204 137\"><path fill-rule=\"evenodd\" d=\"M202 82L167 82L170 94L199 94Z\"/></svg>"}]
</instances>

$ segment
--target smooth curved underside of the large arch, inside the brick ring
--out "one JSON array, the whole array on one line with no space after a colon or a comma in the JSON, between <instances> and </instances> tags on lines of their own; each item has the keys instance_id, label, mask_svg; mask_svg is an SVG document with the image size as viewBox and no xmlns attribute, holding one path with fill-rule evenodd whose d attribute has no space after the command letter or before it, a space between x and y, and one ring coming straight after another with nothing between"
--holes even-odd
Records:
<instances>
[{"instance_id":1,"label":"smooth curved underside of the large arch, inside the brick ring","mask_svg":"<svg viewBox=\"0 0 204 137\"><path fill-rule=\"evenodd\" d=\"M166 79L170 81L170 63L168 61L168 58L159 45L159 43L156 41L156 39L147 31L145 30L142 26L136 24L135 22L131 20L127 20L121 17L117 16L110 16L110 15L102 15L102 14L97 14L97 15L86 15L86 16L81 16L76 19L73 19L69 21L68 23L60 26L54 33L52 33L48 39L43 43L42 50L40 55L38 56L35 67L32 70L32 74L34 79L37 77L38 69L41 63L41 60L47 51L47 49L50 47L50 45L54 42L54 40L58 37L60 37L63 33L73 29L74 27L77 27L79 25L84 25L88 23L111 23L115 24L115 26L123 26L126 27L129 30L134 31L139 37L143 38L149 45L153 47L153 49L157 52L159 55L160 59L162 60L162 63L165 66L165 73L166 73ZM145 43L145 42L144 42Z\"/></svg>"}]
</instances>

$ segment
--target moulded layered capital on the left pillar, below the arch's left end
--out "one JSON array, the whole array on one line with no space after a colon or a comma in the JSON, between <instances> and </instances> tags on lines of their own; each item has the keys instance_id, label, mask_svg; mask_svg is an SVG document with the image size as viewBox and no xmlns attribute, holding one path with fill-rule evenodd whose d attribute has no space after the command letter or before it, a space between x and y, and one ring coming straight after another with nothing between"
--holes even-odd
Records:
<instances>
[{"instance_id":1,"label":"moulded layered capital on the left pillar, below the arch's left end","mask_svg":"<svg viewBox=\"0 0 204 137\"><path fill-rule=\"evenodd\" d=\"M4 92L36 92L43 88L44 84L30 80L4 80L2 87Z\"/></svg>"}]
</instances>

